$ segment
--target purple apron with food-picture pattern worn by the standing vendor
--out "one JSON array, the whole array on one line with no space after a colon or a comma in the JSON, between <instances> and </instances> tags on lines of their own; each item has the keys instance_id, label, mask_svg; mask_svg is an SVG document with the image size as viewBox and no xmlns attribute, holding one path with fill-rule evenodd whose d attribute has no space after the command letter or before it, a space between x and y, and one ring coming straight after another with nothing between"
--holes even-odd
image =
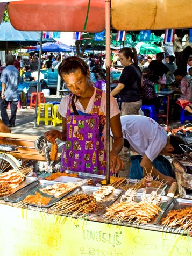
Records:
<instances>
[{"instance_id":1,"label":"purple apron with food-picture pattern worn by the standing vendor","mask_svg":"<svg viewBox=\"0 0 192 256\"><path fill-rule=\"evenodd\" d=\"M72 97L67 110L67 141L62 149L61 171L72 170L105 175L106 152L100 137L99 106L102 90L97 89L91 115L71 115Z\"/></svg>"}]
</instances>

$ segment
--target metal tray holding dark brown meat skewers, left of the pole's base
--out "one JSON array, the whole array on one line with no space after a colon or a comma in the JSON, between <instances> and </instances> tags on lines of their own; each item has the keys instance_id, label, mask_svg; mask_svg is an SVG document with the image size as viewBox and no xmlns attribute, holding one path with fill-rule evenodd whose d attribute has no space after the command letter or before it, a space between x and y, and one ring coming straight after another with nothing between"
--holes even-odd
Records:
<instances>
[{"instance_id":1,"label":"metal tray holding dark brown meat skewers, left of the pole's base","mask_svg":"<svg viewBox=\"0 0 192 256\"><path fill-rule=\"evenodd\" d=\"M70 192L67 196L72 196L75 194L93 195L93 193L98 189L99 187L96 187L96 186L81 186L79 188L76 188L72 192ZM98 209L96 209L96 212L89 212L86 215L91 215L91 216L102 215L106 210L106 207L109 207L113 202L115 202L117 198L123 194L123 192L124 191L121 189L113 189L112 192L109 195L106 195L105 198L102 198L101 201L96 201L97 204L99 205Z\"/></svg>"}]
</instances>

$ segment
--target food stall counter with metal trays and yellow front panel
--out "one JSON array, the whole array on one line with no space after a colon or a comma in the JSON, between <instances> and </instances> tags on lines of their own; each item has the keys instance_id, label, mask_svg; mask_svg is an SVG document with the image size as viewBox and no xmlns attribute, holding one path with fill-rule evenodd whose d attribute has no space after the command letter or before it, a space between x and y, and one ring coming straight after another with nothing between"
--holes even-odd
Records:
<instances>
[{"instance_id":1,"label":"food stall counter with metal trays and yellow front panel","mask_svg":"<svg viewBox=\"0 0 192 256\"><path fill-rule=\"evenodd\" d=\"M138 222L136 217L132 221L119 222L113 217L107 218L108 211L106 210L124 201L127 195L126 191L130 191L129 187L138 190L141 183L144 184L147 179L140 181L113 177L113 189L105 195L104 199L97 202L100 207L96 211L75 214L77 203L70 206L73 205L72 197L81 194L93 196L96 195L94 192L99 195L98 191L101 190L101 185L106 180L101 175L94 175L92 178L90 175L85 176L82 173L79 173L79 177L77 175L73 177L72 173L68 173L68 175L59 177L58 174L52 173L50 176L47 175L47 179L38 179L33 177L34 175L28 174L25 177L27 181L23 180L23 186L20 183L20 188L16 188L15 192L1 197L1 255L6 255L8 252L13 256L191 255L192 238L189 233L192 224L189 224L190 229L183 230L179 228L179 225L173 228L165 226L162 224L162 220L165 221L170 210L190 207L189 222L192 222L192 200L167 196L169 188L166 184L162 184L161 191L165 191L165 195L160 196L161 199L158 203L160 211L154 218L149 222ZM12 176L11 173L10 176ZM0 179L2 179L1 175ZM26 182L27 184L25 184ZM156 182L157 184L155 181L152 182L153 186L159 185L158 181ZM66 192L63 194L56 195L52 191L56 186L65 186L68 190L65 190ZM137 207L143 196L142 193L136 192L136 197L133 200L134 208ZM42 204L43 200L36 203L24 201L26 198L29 199L30 195L38 193L43 197L51 198L51 201L44 205ZM149 197L150 194L147 195L147 198ZM63 202L65 203L67 200L69 201L67 207L59 207L61 203L64 205ZM71 212L67 213L67 209Z\"/></svg>"}]
</instances>

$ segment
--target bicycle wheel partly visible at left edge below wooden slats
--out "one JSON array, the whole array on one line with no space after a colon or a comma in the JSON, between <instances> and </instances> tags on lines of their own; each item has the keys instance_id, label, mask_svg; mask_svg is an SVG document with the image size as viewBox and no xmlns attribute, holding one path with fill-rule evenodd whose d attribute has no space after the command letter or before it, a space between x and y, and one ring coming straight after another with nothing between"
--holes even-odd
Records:
<instances>
[{"instance_id":1,"label":"bicycle wheel partly visible at left edge below wooden slats","mask_svg":"<svg viewBox=\"0 0 192 256\"><path fill-rule=\"evenodd\" d=\"M0 173L20 167L18 160L10 154L0 153Z\"/></svg>"}]
</instances>

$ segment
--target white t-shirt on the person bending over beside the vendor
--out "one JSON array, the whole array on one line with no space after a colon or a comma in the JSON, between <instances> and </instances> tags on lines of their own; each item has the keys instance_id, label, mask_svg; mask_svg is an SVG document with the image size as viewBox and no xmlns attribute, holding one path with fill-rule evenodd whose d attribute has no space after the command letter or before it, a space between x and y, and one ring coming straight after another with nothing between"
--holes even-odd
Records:
<instances>
[{"instance_id":1,"label":"white t-shirt on the person bending over beside the vendor","mask_svg":"<svg viewBox=\"0 0 192 256\"><path fill-rule=\"evenodd\" d=\"M146 154L153 160L167 143L167 132L153 119L140 115L120 117L123 137L127 139L134 151Z\"/></svg>"}]
</instances>

